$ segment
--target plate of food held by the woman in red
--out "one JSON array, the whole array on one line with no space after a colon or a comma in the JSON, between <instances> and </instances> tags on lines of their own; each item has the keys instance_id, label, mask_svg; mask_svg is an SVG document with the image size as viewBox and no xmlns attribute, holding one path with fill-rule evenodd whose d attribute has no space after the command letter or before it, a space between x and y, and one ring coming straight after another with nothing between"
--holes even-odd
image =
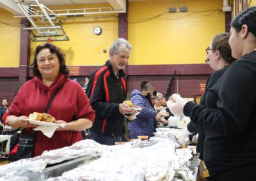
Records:
<instances>
[{"instance_id":1,"label":"plate of food held by the woman in red","mask_svg":"<svg viewBox=\"0 0 256 181\"><path fill-rule=\"evenodd\" d=\"M60 124L55 123L56 119L47 113L31 113L28 117L30 124L36 124L39 126L59 126Z\"/></svg>"}]
</instances>

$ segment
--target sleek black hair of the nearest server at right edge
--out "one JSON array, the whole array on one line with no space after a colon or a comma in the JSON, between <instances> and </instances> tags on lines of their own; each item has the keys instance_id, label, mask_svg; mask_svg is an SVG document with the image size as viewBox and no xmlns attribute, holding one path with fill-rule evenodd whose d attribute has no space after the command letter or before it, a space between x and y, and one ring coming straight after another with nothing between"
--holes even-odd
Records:
<instances>
[{"instance_id":1,"label":"sleek black hair of the nearest server at right edge","mask_svg":"<svg viewBox=\"0 0 256 181\"><path fill-rule=\"evenodd\" d=\"M247 25L248 31L256 38L256 6L247 8L237 15L230 23L236 32L241 31L243 25Z\"/></svg>"}]
</instances>

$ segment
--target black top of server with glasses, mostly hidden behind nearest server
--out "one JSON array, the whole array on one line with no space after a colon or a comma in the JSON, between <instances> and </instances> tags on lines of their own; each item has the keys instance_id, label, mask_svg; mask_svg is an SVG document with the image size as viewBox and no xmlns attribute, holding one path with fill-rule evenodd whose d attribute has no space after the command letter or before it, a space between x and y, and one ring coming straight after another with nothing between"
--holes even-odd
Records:
<instances>
[{"instance_id":1,"label":"black top of server with glasses, mostly hidden behind nearest server","mask_svg":"<svg viewBox=\"0 0 256 181\"><path fill-rule=\"evenodd\" d=\"M209 76L206 86L205 86L205 92L202 95L202 98L200 99L200 105L205 106L205 95L207 95L207 92L209 89L221 78L223 73L227 70L228 66L225 66L225 68L220 69L218 71L214 71L211 76ZM199 158L204 160L204 127L200 127L196 125L194 122L189 122L188 124L188 131L191 133L198 133L198 141L196 144L196 151L200 153Z\"/></svg>"}]
</instances>

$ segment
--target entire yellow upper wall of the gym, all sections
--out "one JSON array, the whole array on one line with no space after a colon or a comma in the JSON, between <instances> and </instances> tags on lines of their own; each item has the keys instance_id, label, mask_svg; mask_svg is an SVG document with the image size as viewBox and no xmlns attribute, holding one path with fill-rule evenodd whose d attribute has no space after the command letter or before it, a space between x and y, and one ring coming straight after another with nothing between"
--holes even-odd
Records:
<instances>
[{"instance_id":1,"label":"entire yellow upper wall of the gym, all sections","mask_svg":"<svg viewBox=\"0 0 256 181\"><path fill-rule=\"evenodd\" d=\"M179 2L179 4L177 4ZM108 6L108 4L86 4L86 6L52 6L51 10L91 8ZM168 13L168 8L186 6L188 12ZM222 9L223 0L148 0L129 1L129 36L133 46L129 64L193 64L204 63L205 48L211 42L215 34L225 31L225 14L218 11ZM141 8L143 7L143 8ZM205 11L198 13L194 11ZM163 15L161 15L163 14ZM3 16L2 16L3 15ZM161 15L157 18L152 18ZM11 13L0 11L0 20L19 22L19 18L13 18ZM141 20L148 20L139 22ZM118 38L117 15L97 15L67 18L60 17L64 31L70 41L54 41L67 55L68 66L101 65L108 59L108 53L103 50L109 49L113 41ZM93 27L100 26L102 34L93 34ZM1 36L4 40L13 41L10 48L1 41L0 66L19 66L19 27L10 27L10 31L0 27ZM42 42L31 42L31 61L37 45ZM4 46L3 46L4 45ZM6 50L7 49L7 50ZM8 50L12 55L5 55ZM4 55L4 57L3 57Z\"/></svg>"}]
</instances>

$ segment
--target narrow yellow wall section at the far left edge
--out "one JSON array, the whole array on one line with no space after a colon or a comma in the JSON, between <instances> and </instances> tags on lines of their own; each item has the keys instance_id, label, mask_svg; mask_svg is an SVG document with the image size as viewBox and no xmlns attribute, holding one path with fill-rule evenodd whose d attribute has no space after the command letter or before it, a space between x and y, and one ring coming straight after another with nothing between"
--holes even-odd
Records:
<instances>
[{"instance_id":1,"label":"narrow yellow wall section at the far left edge","mask_svg":"<svg viewBox=\"0 0 256 181\"><path fill-rule=\"evenodd\" d=\"M6 25L6 24L12 25ZM20 54L20 19L0 8L0 67L18 67Z\"/></svg>"}]
</instances>

